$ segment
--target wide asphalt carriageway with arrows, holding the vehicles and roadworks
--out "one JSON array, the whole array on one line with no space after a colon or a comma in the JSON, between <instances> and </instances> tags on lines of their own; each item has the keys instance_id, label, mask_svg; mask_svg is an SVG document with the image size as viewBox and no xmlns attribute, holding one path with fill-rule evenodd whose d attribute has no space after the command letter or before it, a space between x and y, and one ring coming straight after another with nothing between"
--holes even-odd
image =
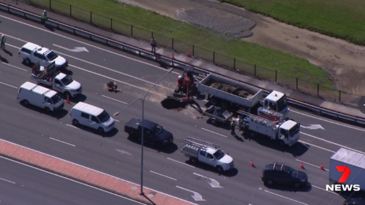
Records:
<instances>
[{"instance_id":1,"label":"wide asphalt carriageway with arrows, holding the vehicles and roadworks","mask_svg":"<svg viewBox=\"0 0 365 205\"><path fill-rule=\"evenodd\" d=\"M157 63L110 49L60 31L50 31L39 24L0 13L0 32L7 36L7 53L0 51L0 117L1 138L92 169L140 182L141 146L123 132L131 118L141 117L141 102L136 102L115 117L116 128L110 134L98 134L88 128L75 128L69 111L78 101L104 108L111 115L136 98L165 74ZM22 64L19 48L26 42L49 47L69 61L68 74L80 82L84 96L72 99L65 110L47 114L34 107L24 107L16 100L17 88L30 81L31 68ZM88 52L67 49L85 47ZM65 49L67 48L67 49ZM230 135L227 127L208 124L206 118L197 119L193 107L182 111L166 110L161 101L173 92L177 73L169 73L148 94L145 118L156 121L174 134L174 145L155 148L146 145L144 155L144 185L197 204L341 204L343 197L327 192L328 171L319 169L323 162L340 147L364 152L364 129L312 116L292 109L289 117L301 123L300 143L281 148L267 139L243 139ZM122 90L110 93L106 83L115 81ZM204 101L198 101L204 107ZM318 124L323 129L311 129ZM304 128L304 127L309 128ZM214 169L192 165L180 152L179 140L191 136L219 144L234 158L235 169L219 175ZM251 159L255 168L250 167ZM284 162L299 169L300 161L309 176L310 184L299 190L286 187L269 188L260 179L267 163ZM221 187L210 185L212 181ZM193 192L201 198L192 197ZM1 199L0 199L1 200Z\"/></svg>"}]
</instances>

